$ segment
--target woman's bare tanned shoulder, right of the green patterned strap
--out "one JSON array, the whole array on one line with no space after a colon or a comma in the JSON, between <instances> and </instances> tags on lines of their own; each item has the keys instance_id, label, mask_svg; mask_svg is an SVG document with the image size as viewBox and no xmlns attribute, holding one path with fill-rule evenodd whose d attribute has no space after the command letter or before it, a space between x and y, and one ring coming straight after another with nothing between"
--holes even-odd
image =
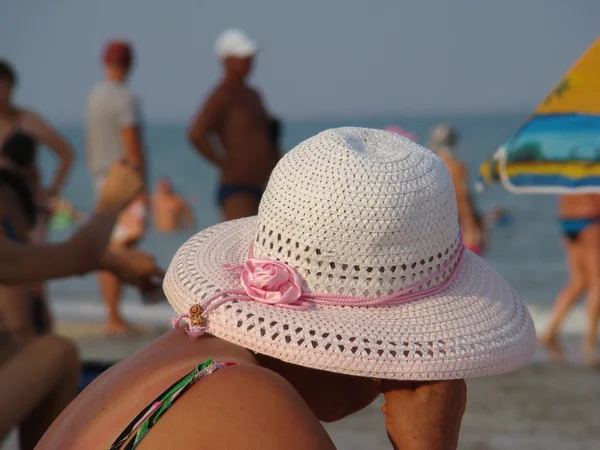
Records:
<instances>
[{"instance_id":1,"label":"woman's bare tanned shoulder, right of the green patterned strap","mask_svg":"<svg viewBox=\"0 0 600 450\"><path fill-rule=\"evenodd\" d=\"M197 430L195 442L190 430ZM335 449L292 385L275 372L250 364L227 367L202 379L147 439L148 448L168 444L200 449L210 442L214 450Z\"/></svg>"}]
</instances>

